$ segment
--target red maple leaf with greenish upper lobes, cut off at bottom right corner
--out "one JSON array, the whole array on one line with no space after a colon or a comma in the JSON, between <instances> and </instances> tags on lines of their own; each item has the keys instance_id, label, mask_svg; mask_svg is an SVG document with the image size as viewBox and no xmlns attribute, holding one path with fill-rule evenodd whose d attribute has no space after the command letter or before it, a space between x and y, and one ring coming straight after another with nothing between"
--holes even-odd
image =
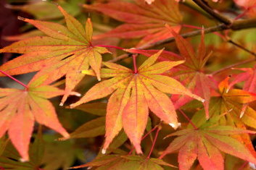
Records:
<instances>
[{"instance_id":1,"label":"red maple leaf with greenish upper lobes, cut off at bottom right corner","mask_svg":"<svg viewBox=\"0 0 256 170\"><path fill-rule=\"evenodd\" d=\"M182 129L168 135L168 137L178 137L163 151L160 158L178 150L178 164L181 170L190 169L196 159L199 160L203 169L224 169L220 151L256 163L255 156L243 143L229 136L241 133L255 134L253 131L231 126L214 126L209 122L202 124L199 129Z\"/></svg>"}]
</instances>

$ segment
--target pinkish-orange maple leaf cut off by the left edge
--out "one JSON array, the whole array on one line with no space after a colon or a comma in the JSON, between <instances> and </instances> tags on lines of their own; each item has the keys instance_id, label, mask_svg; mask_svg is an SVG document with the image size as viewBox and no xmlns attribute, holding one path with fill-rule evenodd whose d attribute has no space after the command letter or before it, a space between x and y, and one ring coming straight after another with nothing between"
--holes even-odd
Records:
<instances>
[{"instance_id":1,"label":"pinkish-orange maple leaf cut off by the left edge","mask_svg":"<svg viewBox=\"0 0 256 170\"><path fill-rule=\"evenodd\" d=\"M54 106L47 100L63 95L64 90L41 85L40 82L30 81L25 90L0 88L0 137L8 131L23 161L29 159L28 146L35 121L54 129L65 138L70 136L59 123Z\"/></svg>"}]
</instances>

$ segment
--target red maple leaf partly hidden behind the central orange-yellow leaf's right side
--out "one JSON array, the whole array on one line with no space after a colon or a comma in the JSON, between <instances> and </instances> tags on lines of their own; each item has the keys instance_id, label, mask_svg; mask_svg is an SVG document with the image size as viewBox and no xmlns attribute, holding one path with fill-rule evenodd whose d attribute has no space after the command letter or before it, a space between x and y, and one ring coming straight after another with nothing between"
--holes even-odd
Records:
<instances>
[{"instance_id":1,"label":"red maple leaf partly hidden behind the central orange-yellow leaf's right side","mask_svg":"<svg viewBox=\"0 0 256 170\"><path fill-rule=\"evenodd\" d=\"M162 57L161 60L185 60L182 65L178 65L175 69L171 69L167 74L176 77L177 80L180 80L184 85L186 85L186 88L189 88L193 93L205 99L203 104L205 106L205 114L208 119L210 90L215 89L215 84L212 83L210 77L204 73L205 64L209 59L210 54L212 54L211 52L207 54L204 31L202 30L201 43L199 44L196 53L193 46L191 46L191 43L186 41L181 35L175 33L168 25L166 25L166 27L168 27L168 29L173 33L181 56L170 51L165 51L165 53L160 56ZM128 49L127 51L130 53L143 54L145 56L150 56L152 54L152 50ZM175 101L175 108L178 109L191 101L191 98L189 98L189 96L182 96Z\"/></svg>"}]
</instances>

